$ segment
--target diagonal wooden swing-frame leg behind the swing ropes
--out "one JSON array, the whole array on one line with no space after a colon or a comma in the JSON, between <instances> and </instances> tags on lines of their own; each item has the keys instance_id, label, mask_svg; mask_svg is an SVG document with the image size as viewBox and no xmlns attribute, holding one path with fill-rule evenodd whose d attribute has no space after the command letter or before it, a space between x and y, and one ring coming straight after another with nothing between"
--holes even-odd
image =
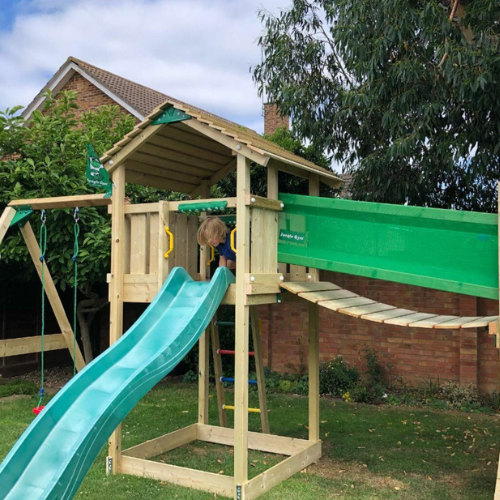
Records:
<instances>
[{"instance_id":1,"label":"diagonal wooden swing-frame leg behind the swing ropes","mask_svg":"<svg viewBox=\"0 0 500 500\"><path fill-rule=\"evenodd\" d=\"M28 247L31 259L35 264L38 276L40 276L41 279L42 263L40 262L40 247L38 246L38 242L36 241L35 234L33 233L33 229L31 228L31 224L29 222L27 222L24 227L21 228L21 234L23 235L24 241L26 242L26 246ZM54 312L57 324L61 329L64 340L66 341L66 345L68 346L71 357L73 357L73 329L68 320L68 317L66 316L61 299L59 298L57 289L54 285L54 282L52 281L52 276L50 275L50 272L47 268L47 264L45 264L44 281L45 293L47 294L47 298L49 299L52 311ZM76 369L81 370L85 366L85 361L78 345L75 348L74 354Z\"/></svg>"}]
</instances>

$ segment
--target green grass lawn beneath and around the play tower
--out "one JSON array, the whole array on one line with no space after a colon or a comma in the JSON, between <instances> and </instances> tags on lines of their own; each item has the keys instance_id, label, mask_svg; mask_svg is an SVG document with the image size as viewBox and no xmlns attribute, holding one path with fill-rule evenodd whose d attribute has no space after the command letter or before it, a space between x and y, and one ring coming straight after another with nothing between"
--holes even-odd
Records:
<instances>
[{"instance_id":1,"label":"green grass lawn beneath and around the play tower","mask_svg":"<svg viewBox=\"0 0 500 500\"><path fill-rule=\"evenodd\" d=\"M255 404L255 392L250 394ZM228 398L229 399L229 398ZM31 422L36 398L0 398L0 458ZM307 398L269 395L271 432L307 438ZM123 423L123 447L192 424L197 388L179 382L159 384ZM251 430L260 417L249 416ZM210 423L217 424L211 393ZM321 400L323 458L272 489L262 499L283 500L491 500L499 453L498 417L421 408L371 406ZM105 500L213 499L213 494L164 482L105 475L102 450L75 498ZM253 477L282 457L249 453ZM158 461L232 475L231 448L194 442ZM217 496L217 498L222 498Z\"/></svg>"}]
</instances>

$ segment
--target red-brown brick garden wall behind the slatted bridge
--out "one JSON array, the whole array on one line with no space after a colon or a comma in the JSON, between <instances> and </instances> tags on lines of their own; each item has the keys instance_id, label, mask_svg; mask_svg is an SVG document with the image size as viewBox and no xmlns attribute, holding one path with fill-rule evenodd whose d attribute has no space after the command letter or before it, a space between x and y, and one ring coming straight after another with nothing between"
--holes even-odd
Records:
<instances>
[{"instance_id":1,"label":"red-brown brick garden wall behind the slatted bridge","mask_svg":"<svg viewBox=\"0 0 500 500\"><path fill-rule=\"evenodd\" d=\"M498 314L498 303L427 288L322 272L322 281L378 302L420 312L453 316ZM283 295L284 302L261 306L264 364L279 372L307 370L308 302ZM391 374L415 386L430 379L472 383L481 391L498 390L498 350L487 329L433 330L404 328L352 318L321 308L320 359L341 355L364 367L364 351L373 348Z\"/></svg>"}]
</instances>

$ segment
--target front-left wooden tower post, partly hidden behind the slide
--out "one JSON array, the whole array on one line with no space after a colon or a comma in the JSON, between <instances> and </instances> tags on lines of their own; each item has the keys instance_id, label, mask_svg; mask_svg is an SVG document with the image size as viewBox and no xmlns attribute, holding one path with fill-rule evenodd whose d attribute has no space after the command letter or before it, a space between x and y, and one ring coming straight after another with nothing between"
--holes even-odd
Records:
<instances>
[{"instance_id":1,"label":"front-left wooden tower post, partly hidden behind the slide","mask_svg":"<svg viewBox=\"0 0 500 500\"><path fill-rule=\"evenodd\" d=\"M111 216L111 283L109 344L116 342L123 334L123 275L125 245L125 164L113 172L113 213ZM120 470L121 425L108 441L106 470L116 474Z\"/></svg>"}]
</instances>

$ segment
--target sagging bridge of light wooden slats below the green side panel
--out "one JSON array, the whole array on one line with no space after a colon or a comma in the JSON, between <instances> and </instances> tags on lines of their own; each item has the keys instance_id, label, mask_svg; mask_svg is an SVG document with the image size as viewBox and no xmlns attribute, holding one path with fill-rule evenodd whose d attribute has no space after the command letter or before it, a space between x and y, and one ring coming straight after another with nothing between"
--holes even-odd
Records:
<instances>
[{"instance_id":1,"label":"sagging bridge of light wooden slats below the green side panel","mask_svg":"<svg viewBox=\"0 0 500 500\"><path fill-rule=\"evenodd\" d=\"M361 297L329 282L281 283L281 288L332 311L355 318L415 328L479 328L498 321L498 316L443 316L401 309Z\"/></svg>"}]
</instances>

